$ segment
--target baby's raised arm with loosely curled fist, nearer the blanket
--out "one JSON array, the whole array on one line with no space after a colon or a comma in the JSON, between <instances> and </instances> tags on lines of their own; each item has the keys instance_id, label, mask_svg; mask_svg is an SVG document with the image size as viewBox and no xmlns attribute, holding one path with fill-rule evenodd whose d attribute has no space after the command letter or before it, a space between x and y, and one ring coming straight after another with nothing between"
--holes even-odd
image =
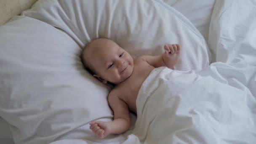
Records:
<instances>
[{"instance_id":1,"label":"baby's raised arm with loosely curled fist, nearer the blanket","mask_svg":"<svg viewBox=\"0 0 256 144\"><path fill-rule=\"evenodd\" d=\"M179 60L180 45L172 44L164 46L165 53L160 56L140 56L139 59L147 61L153 67L172 68Z\"/></svg>"}]
</instances>

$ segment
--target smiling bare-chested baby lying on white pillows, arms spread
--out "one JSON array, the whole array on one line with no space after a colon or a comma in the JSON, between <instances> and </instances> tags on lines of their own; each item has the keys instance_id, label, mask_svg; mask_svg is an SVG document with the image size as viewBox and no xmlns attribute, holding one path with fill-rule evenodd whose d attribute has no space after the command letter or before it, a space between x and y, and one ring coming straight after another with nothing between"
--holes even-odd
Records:
<instances>
[{"instance_id":1,"label":"smiling bare-chested baby lying on white pillows, arms spread","mask_svg":"<svg viewBox=\"0 0 256 144\"><path fill-rule=\"evenodd\" d=\"M165 53L159 56L139 56L135 60L117 43L99 38L88 43L82 53L85 67L102 83L115 87L108 95L109 106L114 112L111 122L92 121L90 129L100 138L110 133L119 134L131 126L129 110L136 113L139 89L149 73L157 67L173 67L179 59L180 45L164 46Z\"/></svg>"}]
</instances>

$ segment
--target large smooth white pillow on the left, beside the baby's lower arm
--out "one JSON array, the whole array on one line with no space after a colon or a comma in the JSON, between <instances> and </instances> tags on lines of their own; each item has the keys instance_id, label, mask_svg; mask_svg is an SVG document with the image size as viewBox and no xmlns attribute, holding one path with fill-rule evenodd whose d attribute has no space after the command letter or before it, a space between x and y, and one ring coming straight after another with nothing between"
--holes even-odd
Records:
<instances>
[{"instance_id":1,"label":"large smooth white pillow on the left, beside the baby's lower arm","mask_svg":"<svg viewBox=\"0 0 256 144\"><path fill-rule=\"evenodd\" d=\"M0 43L0 117L11 125L15 143L48 144L70 137L102 141L88 123L112 120L109 91L84 70L81 48L69 35L16 16L0 27Z\"/></svg>"}]
</instances>

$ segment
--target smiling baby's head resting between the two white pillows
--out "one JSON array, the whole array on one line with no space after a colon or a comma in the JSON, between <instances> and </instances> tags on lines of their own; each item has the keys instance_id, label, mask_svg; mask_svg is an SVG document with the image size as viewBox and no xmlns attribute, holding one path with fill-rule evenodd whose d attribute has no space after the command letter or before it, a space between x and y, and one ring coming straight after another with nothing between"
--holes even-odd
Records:
<instances>
[{"instance_id":1,"label":"smiling baby's head resting between the two white pillows","mask_svg":"<svg viewBox=\"0 0 256 144\"><path fill-rule=\"evenodd\" d=\"M85 67L105 84L121 83L133 72L131 55L107 38L99 38L88 43L81 56Z\"/></svg>"}]
</instances>

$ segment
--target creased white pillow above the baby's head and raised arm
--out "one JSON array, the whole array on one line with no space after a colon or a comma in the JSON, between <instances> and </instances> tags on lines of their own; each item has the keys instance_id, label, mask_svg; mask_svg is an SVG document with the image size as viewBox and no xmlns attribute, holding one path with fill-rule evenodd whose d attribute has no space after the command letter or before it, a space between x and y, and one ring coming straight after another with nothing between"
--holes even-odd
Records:
<instances>
[{"instance_id":1,"label":"creased white pillow above the baby's head and raised arm","mask_svg":"<svg viewBox=\"0 0 256 144\"><path fill-rule=\"evenodd\" d=\"M163 45L179 43L179 70L203 69L211 55L203 36L181 13L161 0L39 0L24 16L67 32L83 47L109 37L133 58L162 54Z\"/></svg>"}]
</instances>

